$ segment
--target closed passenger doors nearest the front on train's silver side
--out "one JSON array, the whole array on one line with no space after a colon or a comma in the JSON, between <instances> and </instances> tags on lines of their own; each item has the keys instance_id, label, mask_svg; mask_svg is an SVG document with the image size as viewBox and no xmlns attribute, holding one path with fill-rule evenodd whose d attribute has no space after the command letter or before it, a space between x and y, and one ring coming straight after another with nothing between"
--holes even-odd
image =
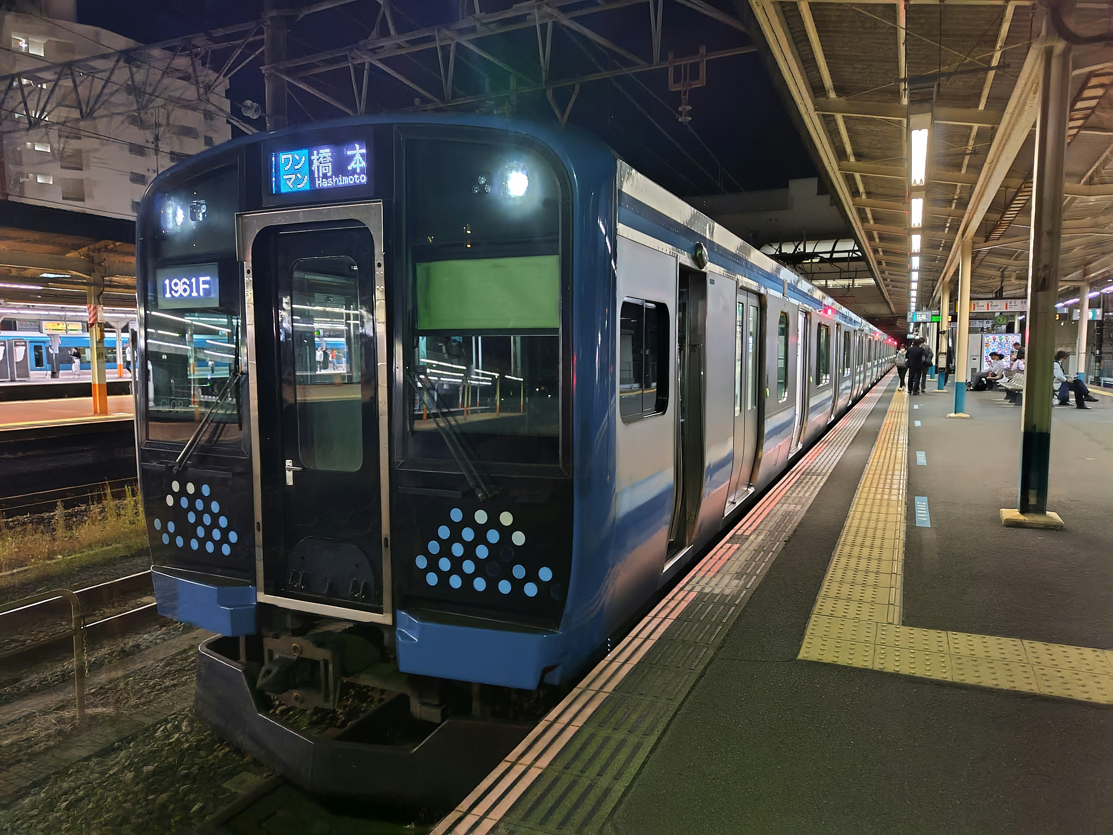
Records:
<instances>
[{"instance_id":1,"label":"closed passenger doors nearest the front on train's silver side","mask_svg":"<svg viewBox=\"0 0 1113 835\"><path fill-rule=\"evenodd\" d=\"M752 293L735 299L735 466L727 511L752 492L758 446L758 385L761 361L761 307Z\"/></svg>"}]
</instances>

